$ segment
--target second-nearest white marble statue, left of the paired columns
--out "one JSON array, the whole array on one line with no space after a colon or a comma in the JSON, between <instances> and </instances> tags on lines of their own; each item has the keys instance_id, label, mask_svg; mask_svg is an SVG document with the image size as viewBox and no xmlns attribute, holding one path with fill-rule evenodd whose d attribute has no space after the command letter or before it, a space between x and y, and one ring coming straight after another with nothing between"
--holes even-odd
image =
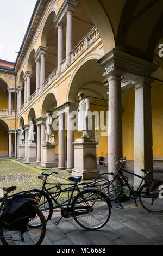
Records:
<instances>
[{"instance_id":1,"label":"second-nearest white marble statue, left of the paired columns","mask_svg":"<svg viewBox=\"0 0 163 256\"><path fill-rule=\"evenodd\" d=\"M52 130L53 119L49 113L46 113L45 123L45 142L54 143L54 133Z\"/></svg>"}]
</instances>

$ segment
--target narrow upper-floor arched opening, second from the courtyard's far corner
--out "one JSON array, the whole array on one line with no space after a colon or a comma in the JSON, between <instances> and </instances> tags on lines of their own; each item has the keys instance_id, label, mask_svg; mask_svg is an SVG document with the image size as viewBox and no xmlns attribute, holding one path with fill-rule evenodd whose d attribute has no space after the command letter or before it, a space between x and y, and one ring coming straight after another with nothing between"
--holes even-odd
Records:
<instances>
[{"instance_id":1,"label":"narrow upper-floor arched opening, second from the courtyard's far corner","mask_svg":"<svg viewBox=\"0 0 163 256\"><path fill-rule=\"evenodd\" d=\"M30 77L30 95L32 95L36 90L36 62L35 62L35 50L33 49L29 54L27 71L32 72L32 77Z\"/></svg>"}]
</instances>

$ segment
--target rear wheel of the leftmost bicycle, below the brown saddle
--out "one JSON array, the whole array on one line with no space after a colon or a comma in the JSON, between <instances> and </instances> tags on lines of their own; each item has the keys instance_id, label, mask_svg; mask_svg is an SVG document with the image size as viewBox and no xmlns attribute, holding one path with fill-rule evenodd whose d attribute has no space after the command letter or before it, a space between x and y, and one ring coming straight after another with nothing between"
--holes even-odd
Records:
<instances>
[{"instance_id":1,"label":"rear wheel of the leftmost bicycle, below the brown saddle","mask_svg":"<svg viewBox=\"0 0 163 256\"><path fill-rule=\"evenodd\" d=\"M23 234L24 241L21 241L21 231L20 230L4 230L3 231L3 215L0 220L0 240L3 245L41 245L45 233L46 233L46 221L42 212L35 205L30 205L32 211L36 212L36 217L29 220L29 223L40 219L41 227L35 228L27 224L27 230ZM10 238L8 237L10 236ZM8 238L7 238L8 237ZM11 239L12 238L12 239ZM13 240L14 239L14 240Z\"/></svg>"}]
</instances>

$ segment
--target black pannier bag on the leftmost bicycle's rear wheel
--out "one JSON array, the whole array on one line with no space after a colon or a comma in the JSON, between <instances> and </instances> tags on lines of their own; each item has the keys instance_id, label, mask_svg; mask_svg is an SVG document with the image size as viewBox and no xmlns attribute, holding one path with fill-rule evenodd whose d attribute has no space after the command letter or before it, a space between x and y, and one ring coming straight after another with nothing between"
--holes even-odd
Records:
<instances>
[{"instance_id":1,"label":"black pannier bag on the leftmost bicycle's rear wheel","mask_svg":"<svg viewBox=\"0 0 163 256\"><path fill-rule=\"evenodd\" d=\"M22 234L26 232L30 218L36 216L36 212L30 207L33 199L32 194L15 195L9 199L3 208L3 228L20 229Z\"/></svg>"}]
</instances>

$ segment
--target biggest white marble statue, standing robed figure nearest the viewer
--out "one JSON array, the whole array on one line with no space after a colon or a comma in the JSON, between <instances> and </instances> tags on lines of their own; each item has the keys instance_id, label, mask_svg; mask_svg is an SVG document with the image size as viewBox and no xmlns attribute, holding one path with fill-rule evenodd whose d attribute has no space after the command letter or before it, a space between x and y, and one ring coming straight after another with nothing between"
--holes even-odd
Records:
<instances>
[{"instance_id":1,"label":"biggest white marble statue, standing robed figure nearest the viewer","mask_svg":"<svg viewBox=\"0 0 163 256\"><path fill-rule=\"evenodd\" d=\"M88 112L90 111L90 103L89 99L86 99L84 97L84 94L80 92L78 94L79 97L79 106L78 106L78 131L83 131L83 137L82 138L89 138L89 131L88 131L88 125L89 125L89 118L88 118Z\"/></svg>"}]
</instances>

